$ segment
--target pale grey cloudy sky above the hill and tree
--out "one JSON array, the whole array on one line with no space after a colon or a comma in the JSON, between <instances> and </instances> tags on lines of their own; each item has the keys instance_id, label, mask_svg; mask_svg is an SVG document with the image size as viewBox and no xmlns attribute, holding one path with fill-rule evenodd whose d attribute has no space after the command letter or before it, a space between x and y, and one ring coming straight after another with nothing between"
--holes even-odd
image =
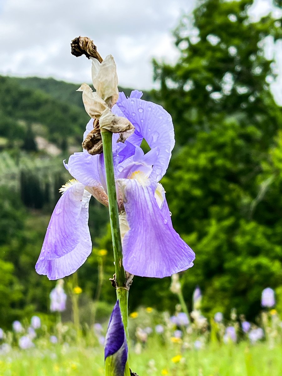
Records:
<instances>
[{"instance_id":1,"label":"pale grey cloudy sky above the hill and tree","mask_svg":"<svg viewBox=\"0 0 282 376\"><path fill-rule=\"evenodd\" d=\"M4 41L0 74L89 82L89 61L70 54L71 39L82 35L94 40L103 57L114 56L121 86L150 89L152 58L176 61L178 52L171 30L183 12L193 11L195 3L196 0L0 0L0 38ZM270 0L255 0L253 17L265 14L269 4ZM282 67L282 59L279 65Z\"/></svg>"}]
</instances>

